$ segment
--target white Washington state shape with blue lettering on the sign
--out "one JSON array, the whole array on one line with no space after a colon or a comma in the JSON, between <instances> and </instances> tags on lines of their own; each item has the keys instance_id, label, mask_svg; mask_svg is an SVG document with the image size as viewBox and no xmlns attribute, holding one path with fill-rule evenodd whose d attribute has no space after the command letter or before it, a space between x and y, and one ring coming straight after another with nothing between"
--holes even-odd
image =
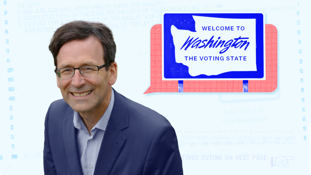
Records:
<instances>
[{"instance_id":1,"label":"white Washington state shape with blue lettering on the sign","mask_svg":"<svg viewBox=\"0 0 311 175\"><path fill-rule=\"evenodd\" d=\"M257 71L255 19L193 19L196 32L171 26L175 61L188 66L191 76Z\"/></svg>"}]
</instances>

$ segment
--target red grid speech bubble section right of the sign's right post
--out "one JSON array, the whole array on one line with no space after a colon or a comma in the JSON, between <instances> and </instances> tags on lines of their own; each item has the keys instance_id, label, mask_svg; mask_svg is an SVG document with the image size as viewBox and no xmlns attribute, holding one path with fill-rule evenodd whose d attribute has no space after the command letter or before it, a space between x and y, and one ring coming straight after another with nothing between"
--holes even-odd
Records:
<instances>
[{"instance_id":1,"label":"red grid speech bubble section right of the sign's right post","mask_svg":"<svg viewBox=\"0 0 311 175\"><path fill-rule=\"evenodd\" d=\"M273 92L277 87L277 30L266 24L266 80L249 80L248 92Z\"/></svg>"}]
</instances>

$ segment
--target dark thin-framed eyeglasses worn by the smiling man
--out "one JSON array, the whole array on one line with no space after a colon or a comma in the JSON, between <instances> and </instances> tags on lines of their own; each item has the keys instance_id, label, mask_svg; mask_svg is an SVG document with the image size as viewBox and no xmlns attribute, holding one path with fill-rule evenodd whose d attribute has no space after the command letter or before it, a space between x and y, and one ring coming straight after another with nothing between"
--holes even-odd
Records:
<instances>
[{"instance_id":1,"label":"dark thin-framed eyeglasses worn by the smiling man","mask_svg":"<svg viewBox=\"0 0 311 175\"><path fill-rule=\"evenodd\" d=\"M100 70L103 67L106 67L109 65L110 62L102 65L102 66L84 66L84 67L78 67L78 68L61 68L56 69L54 72L58 76L59 79L68 79L73 77L73 74L75 73L76 69L79 69L79 72L84 77L91 77L98 75L98 70Z\"/></svg>"}]
</instances>

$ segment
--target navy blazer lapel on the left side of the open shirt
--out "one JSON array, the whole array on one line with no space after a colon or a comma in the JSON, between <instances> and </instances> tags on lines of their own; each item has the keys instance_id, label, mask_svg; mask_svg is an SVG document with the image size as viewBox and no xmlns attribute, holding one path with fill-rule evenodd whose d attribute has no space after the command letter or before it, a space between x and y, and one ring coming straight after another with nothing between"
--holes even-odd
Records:
<instances>
[{"instance_id":1,"label":"navy blazer lapel on the left side of the open shirt","mask_svg":"<svg viewBox=\"0 0 311 175\"><path fill-rule=\"evenodd\" d=\"M77 129L73 126L73 113L63 122L63 138L72 175L83 175L77 146Z\"/></svg>"}]
</instances>

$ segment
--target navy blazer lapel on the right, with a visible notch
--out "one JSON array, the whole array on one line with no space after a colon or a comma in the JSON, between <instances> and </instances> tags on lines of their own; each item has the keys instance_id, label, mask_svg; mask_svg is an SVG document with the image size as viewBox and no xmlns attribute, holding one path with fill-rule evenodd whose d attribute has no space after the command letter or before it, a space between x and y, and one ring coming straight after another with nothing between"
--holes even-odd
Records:
<instances>
[{"instance_id":1,"label":"navy blazer lapel on the right, with a visible notch","mask_svg":"<svg viewBox=\"0 0 311 175\"><path fill-rule=\"evenodd\" d=\"M121 130L127 127L127 102L121 94L114 90L114 106L100 146L94 175L109 175L126 141Z\"/></svg>"}]
</instances>

